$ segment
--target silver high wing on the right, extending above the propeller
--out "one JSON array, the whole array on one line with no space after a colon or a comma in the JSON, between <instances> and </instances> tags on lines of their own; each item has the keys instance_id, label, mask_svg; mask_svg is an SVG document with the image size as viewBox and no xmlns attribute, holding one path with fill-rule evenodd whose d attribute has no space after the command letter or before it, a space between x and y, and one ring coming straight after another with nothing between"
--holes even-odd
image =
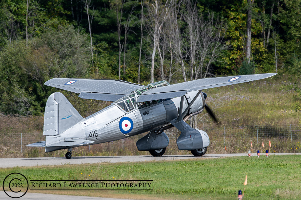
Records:
<instances>
[{"instance_id":1,"label":"silver high wing on the right, extending above the propeller","mask_svg":"<svg viewBox=\"0 0 301 200\"><path fill-rule=\"evenodd\" d=\"M138 97L137 102L151 101L157 99L174 98L185 95L186 92L208 89L213 87L220 87L226 85L233 85L237 83L245 83L252 80L260 80L276 75L277 73L270 74L253 74L241 76L228 76L228 77L215 77L215 78L202 78L198 80L191 80L184 83L177 83L164 87L157 87L149 89Z\"/></svg>"}]
</instances>

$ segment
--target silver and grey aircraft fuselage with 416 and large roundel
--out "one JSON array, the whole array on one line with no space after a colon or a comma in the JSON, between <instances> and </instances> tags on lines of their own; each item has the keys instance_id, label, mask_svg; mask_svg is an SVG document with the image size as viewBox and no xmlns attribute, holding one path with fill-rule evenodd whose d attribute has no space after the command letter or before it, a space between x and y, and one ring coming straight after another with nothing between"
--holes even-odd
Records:
<instances>
[{"instance_id":1,"label":"silver and grey aircraft fuselage with 416 and large roundel","mask_svg":"<svg viewBox=\"0 0 301 200\"><path fill-rule=\"evenodd\" d=\"M116 103L112 103L70 127L61 133L60 137L46 136L45 150L50 152L72 148L72 146L47 147L54 142L61 141L63 143L65 138L80 138L94 141L91 144L99 144L166 127L172 119L178 117L179 113L182 114L196 94L197 91L193 91L185 95L182 111L179 111L181 97L141 102L136 105L136 108L128 112ZM204 99L200 94L190 107L188 115L200 112L203 107ZM60 123L64 123L64 119L60 119Z\"/></svg>"}]
</instances>

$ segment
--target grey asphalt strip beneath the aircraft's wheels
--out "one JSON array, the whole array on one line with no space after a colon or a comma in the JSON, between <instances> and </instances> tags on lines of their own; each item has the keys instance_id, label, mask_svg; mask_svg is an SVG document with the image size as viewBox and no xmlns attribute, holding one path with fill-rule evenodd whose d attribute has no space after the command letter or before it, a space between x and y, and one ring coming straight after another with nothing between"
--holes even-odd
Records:
<instances>
[{"instance_id":1,"label":"grey asphalt strip beneath the aircraft's wheels","mask_svg":"<svg viewBox=\"0 0 301 200\"><path fill-rule=\"evenodd\" d=\"M0 168L23 167L23 166L40 166L40 165L72 165L84 163L116 163L116 162L145 162L145 161L163 161L163 160L182 160L182 159L206 159L221 158L232 156L247 156L247 153L226 153L226 154L205 154L203 157L193 155L163 155L154 156L74 156L71 159L65 157L42 157L42 158L1 158ZM261 153L265 156L265 153ZM270 153L269 155L301 155L301 153ZM252 156L257 156L253 153Z\"/></svg>"}]
</instances>

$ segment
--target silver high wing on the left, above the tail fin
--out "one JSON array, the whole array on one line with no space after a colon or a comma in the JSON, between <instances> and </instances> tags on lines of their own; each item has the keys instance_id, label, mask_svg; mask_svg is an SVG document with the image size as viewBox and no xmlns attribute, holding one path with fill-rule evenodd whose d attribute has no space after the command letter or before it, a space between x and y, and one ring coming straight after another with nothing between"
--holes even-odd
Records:
<instances>
[{"instance_id":1,"label":"silver high wing on the left, above the tail fin","mask_svg":"<svg viewBox=\"0 0 301 200\"><path fill-rule=\"evenodd\" d=\"M79 93L80 98L114 102L135 89L143 87L123 80L53 78L45 85Z\"/></svg>"}]
</instances>

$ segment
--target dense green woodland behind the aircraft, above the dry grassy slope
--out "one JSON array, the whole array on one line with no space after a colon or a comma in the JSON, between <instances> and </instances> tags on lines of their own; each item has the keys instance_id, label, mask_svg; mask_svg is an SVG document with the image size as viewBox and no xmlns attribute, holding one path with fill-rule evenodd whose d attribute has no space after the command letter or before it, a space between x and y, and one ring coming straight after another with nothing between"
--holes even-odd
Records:
<instances>
[{"instance_id":1,"label":"dense green woodland behind the aircraft, above the dry grassy slope","mask_svg":"<svg viewBox=\"0 0 301 200\"><path fill-rule=\"evenodd\" d=\"M159 17L154 18L156 3ZM294 82L283 89L295 91L294 110L300 111L300 5L301 0L254 3L248 64L245 0L178 0L168 5L164 0L4 0L0 113L41 114L55 91L44 82L54 77L118 79L120 67L122 80L137 83L141 31L140 83L149 83L155 20L162 26L154 81L277 71Z\"/></svg>"}]
</instances>

